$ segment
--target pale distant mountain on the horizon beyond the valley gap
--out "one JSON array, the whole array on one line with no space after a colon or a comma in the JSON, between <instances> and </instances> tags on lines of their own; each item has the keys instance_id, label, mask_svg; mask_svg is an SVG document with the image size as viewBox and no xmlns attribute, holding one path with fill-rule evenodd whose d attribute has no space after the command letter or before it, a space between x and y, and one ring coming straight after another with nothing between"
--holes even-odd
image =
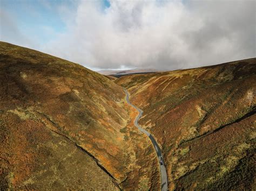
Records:
<instances>
[{"instance_id":1,"label":"pale distant mountain on the horizon beyond the valley gap","mask_svg":"<svg viewBox=\"0 0 256 191\"><path fill-rule=\"evenodd\" d=\"M96 71L103 75L124 75L124 74L133 74L133 73L151 73L151 72L160 72L157 69L127 69L127 70L98 70Z\"/></svg>"}]
</instances>

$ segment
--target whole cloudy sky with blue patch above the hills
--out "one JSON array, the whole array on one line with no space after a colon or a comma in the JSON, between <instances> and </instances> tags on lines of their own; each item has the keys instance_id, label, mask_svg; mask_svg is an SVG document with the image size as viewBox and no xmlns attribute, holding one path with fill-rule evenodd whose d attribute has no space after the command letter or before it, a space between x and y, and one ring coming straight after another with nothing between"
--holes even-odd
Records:
<instances>
[{"instance_id":1,"label":"whole cloudy sky with blue patch above the hills","mask_svg":"<svg viewBox=\"0 0 256 191\"><path fill-rule=\"evenodd\" d=\"M0 0L0 40L87 68L174 70L256 57L256 1Z\"/></svg>"}]
</instances>

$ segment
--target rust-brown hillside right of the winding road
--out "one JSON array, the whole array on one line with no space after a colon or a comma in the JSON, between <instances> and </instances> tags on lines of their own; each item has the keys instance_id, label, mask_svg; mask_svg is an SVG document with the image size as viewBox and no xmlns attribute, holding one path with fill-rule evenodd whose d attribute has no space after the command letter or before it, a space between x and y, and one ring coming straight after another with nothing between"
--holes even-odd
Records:
<instances>
[{"instance_id":1,"label":"rust-brown hillside right of the winding road","mask_svg":"<svg viewBox=\"0 0 256 191\"><path fill-rule=\"evenodd\" d=\"M170 189L255 188L255 74L247 59L116 80L163 148Z\"/></svg>"}]
</instances>

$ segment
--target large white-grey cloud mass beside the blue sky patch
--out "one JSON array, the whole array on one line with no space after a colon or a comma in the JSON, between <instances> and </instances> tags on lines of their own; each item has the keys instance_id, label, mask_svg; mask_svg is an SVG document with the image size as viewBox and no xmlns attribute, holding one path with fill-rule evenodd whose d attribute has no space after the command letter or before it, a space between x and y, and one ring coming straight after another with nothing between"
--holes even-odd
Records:
<instances>
[{"instance_id":1,"label":"large white-grey cloud mass beside the blue sky patch","mask_svg":"<svg viewBox=\"0 0 256 191\"><path fill-rule=\"evenodd\" d=\"M77 3L75 12L59 6L68 30L38 49L89 68L178 69L255 57L255 1Z\"/></svg>"}]
</instances>

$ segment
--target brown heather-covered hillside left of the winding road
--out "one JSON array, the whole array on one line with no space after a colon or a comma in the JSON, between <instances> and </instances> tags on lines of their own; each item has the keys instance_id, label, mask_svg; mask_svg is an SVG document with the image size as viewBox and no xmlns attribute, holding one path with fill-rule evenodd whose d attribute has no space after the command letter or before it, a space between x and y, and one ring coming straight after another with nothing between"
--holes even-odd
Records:
<instances>
[{"instance_id":1,"label":"brown heather-covered hillside left of the winding road","mask_svg":"<svg viewBox=\"0 0 256 191\"><path fill-rule=\"evenodd\" d=\"M1 189L159 186L122 87L76 63L0 45Z\"/></svg>"}]
</instances>

